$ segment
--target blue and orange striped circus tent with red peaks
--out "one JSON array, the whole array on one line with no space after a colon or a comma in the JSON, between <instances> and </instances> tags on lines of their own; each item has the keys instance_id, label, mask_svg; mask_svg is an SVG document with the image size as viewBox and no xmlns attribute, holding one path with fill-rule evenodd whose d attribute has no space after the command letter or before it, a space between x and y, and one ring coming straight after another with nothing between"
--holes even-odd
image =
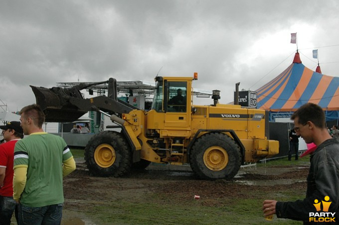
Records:
<instances>
[{"instance_id":1,"label":"blue and orange striped circus tent with red peaks","mask_svg":"<svg viewBox=\"0 0 339 225\"><path fill-rule=\"evenodd\" d=\"M339 77L305 67L297 52L293 63L272 81L258 90L257 108L269 111L270 121L289 117L305 103L315 103L326 113L326 120L339 118Z\"/></svg>"}]
</instances>

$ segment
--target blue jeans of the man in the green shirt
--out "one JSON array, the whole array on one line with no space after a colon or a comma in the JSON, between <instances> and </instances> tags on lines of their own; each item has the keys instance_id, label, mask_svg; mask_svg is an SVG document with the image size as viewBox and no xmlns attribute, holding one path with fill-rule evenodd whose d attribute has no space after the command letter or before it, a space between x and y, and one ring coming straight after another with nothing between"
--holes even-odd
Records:
<instances>
[{"instance_id":1,"label":"blue jeans of the man in the green shirt","mask_svg":"<svg viewBox=\"0 0 339 225\"><path fill-rule=\"evenodd\" d=\"M60 225L62 205L63 204L43 207L27 207L19 204L18 225Z\"/></svg>"}]
</instances>

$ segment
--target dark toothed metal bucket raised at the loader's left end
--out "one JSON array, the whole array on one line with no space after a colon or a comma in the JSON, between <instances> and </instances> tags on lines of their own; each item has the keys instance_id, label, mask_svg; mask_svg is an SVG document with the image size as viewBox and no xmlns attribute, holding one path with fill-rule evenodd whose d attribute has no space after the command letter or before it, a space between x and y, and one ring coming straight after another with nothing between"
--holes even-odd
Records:
<instances>
[{"instance_id":1,"label":"dark toothed metal bucket raised at the loader's left end","mask_svg":"<svg viewBox=\"0 0 339 225\"><path fill-rule=\"evenodd\" d=\"M79 98L81 93L72 89L54 87L43 88L31 86L36 104L45 113L46 122L73 122L87 111L79 110L69 102L70 98ZM81 97L82 98L82 97Z\"/></svg>"}]
</instances>

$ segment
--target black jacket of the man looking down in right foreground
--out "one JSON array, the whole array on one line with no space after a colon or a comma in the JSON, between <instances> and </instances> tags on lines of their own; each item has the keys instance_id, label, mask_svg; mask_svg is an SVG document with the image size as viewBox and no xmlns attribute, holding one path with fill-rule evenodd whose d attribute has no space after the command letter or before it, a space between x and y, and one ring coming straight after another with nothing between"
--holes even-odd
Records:
<instances>
[{"instance_id":1,"label":"black jacket of the man looking down in right foreground","mask_svg":"<svg viewBox=\"0 0 339 225\"><path fill-rule=\"evenodd\" d=\"M324 141L311 155L306 198L295 202L277 202L277 217L312 224L309 223L309 213L317 213L314 206L316 200L321 203L318 213L325 212L322 201L326 196L332 202L328 212L336 213L335 221L339 224L339 142L335 138Z\"/></svg>"}]
</instances>

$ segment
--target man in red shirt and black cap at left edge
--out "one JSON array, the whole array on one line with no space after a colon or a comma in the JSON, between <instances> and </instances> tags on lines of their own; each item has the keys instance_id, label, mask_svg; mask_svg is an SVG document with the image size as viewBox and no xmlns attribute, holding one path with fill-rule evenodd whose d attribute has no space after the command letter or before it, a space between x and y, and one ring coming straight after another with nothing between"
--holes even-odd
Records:
<instances>
[{"instance_id":1,"label":"man in red shirt and black cap at left edge","mask_svg":"<svg viewBox=\"0 0 339 225\"><path fill-rule=\"evenodd\" d=\"M14 210L18 221L16 202L13 200L13 155L15 143L23 138L23 131L19 121L8 122L0 129L6 141L0 144L0 224L10 225Z\"/></svg>"}]
</instances>

